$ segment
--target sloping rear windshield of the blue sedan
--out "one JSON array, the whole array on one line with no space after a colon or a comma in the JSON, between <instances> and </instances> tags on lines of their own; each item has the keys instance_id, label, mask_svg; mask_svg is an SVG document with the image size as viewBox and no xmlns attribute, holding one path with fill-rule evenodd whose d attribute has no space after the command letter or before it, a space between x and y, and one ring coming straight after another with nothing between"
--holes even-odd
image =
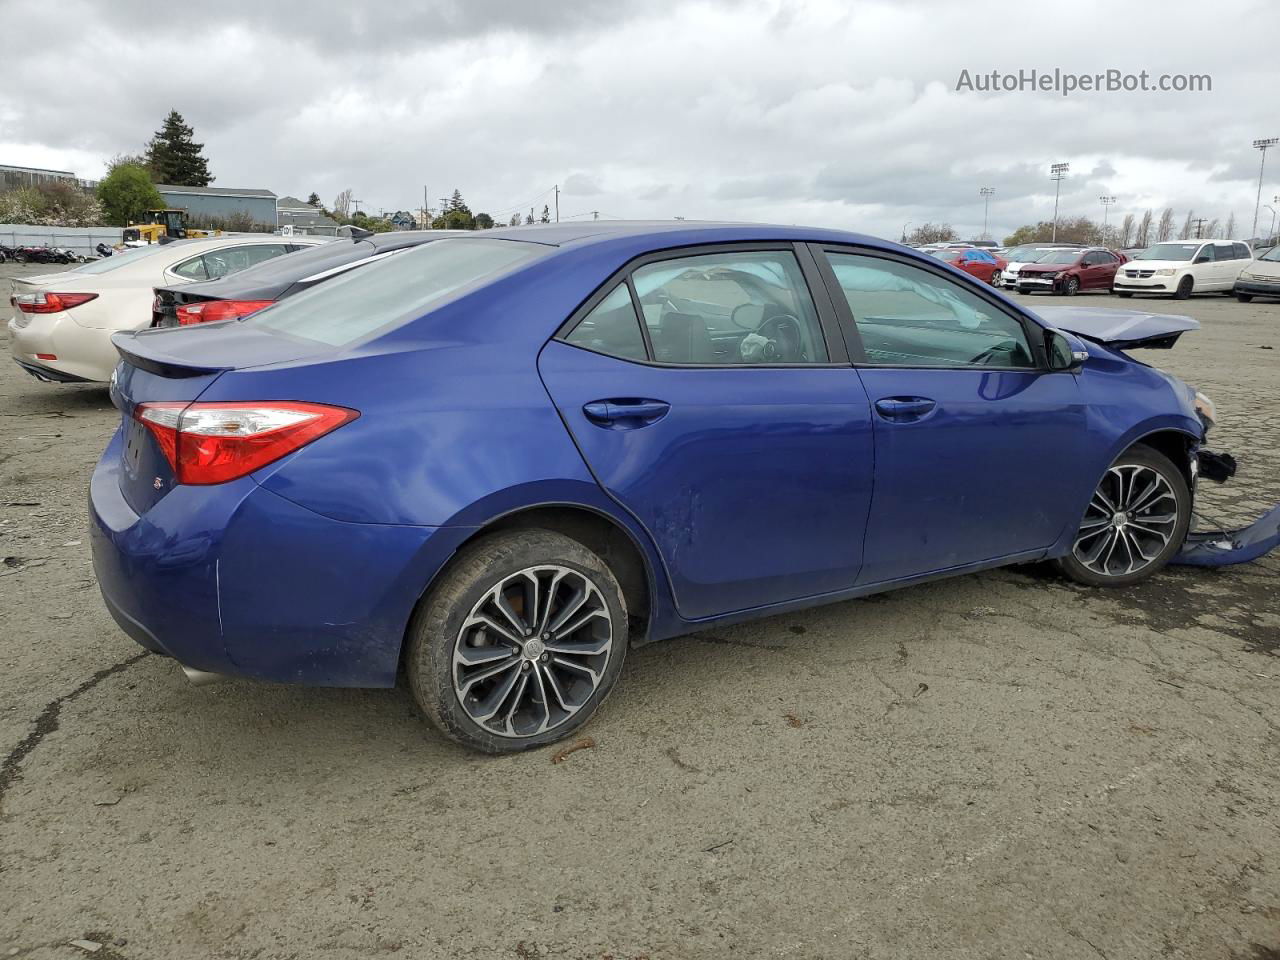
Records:
<instances>
[{"instance_id":1,"label":"sloping rear windshield of the blue sedan","mask_svg":"<svg viewBox=\"0 0 1280 960\"><path fill-rule=\"evenodd\" d=\"M425 243L250 315L242 323L332 347L421 316L466 287L547 253L521 241L451 238Z\"/></svg>"}]
</instances>

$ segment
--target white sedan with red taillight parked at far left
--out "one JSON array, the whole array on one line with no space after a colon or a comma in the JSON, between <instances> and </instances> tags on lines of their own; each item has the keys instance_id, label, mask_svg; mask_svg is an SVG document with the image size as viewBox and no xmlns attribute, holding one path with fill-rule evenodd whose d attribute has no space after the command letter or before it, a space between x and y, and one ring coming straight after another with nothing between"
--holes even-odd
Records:
<instances>
[{"instance_id":1,"label":"white sedan with red taillight parked at far left","mask_svg":"<svg viewBox=\"0 0 1280 960\"><path fill-rule=\"evenodd\" d=\"M211 280L264 260L326 243L326 237L241 234L156 243L56 274L14 278L13 358L56 383L111 379L118 330L151 325L155 287Z\"/></svg>"}]
</instances>

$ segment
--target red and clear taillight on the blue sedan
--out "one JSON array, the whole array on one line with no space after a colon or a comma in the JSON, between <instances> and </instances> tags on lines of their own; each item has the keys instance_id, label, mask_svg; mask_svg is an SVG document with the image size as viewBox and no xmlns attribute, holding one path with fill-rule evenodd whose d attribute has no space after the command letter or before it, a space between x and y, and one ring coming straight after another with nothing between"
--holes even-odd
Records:
<instances>
[{"instance_id":1,"label":"red and clear taillight on the blue sedan","mask_svg":"<svg viewBox=\"0 0 1280 960\"><path fill-rule=\"evenodd\" d=\"M360 416L326 403L140 403L179 484L224 484Z\"/></svg>"}]
</instances>

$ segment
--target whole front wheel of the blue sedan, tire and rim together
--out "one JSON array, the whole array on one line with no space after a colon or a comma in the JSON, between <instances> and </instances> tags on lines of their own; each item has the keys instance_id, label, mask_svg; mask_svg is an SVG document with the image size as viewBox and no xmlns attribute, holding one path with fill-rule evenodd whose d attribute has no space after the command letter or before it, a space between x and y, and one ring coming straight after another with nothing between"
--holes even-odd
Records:
<instances>
[{"instance_id":1,"label":"whole front wheel of the blue sedan, tire and rim together","mask_svg":"<svg viewBox=\"0 0 1280 960\"><path fill-rule=\"evenodd\" d=\"M1162 453L1135 444L1107 467L1071 552L1055 562L1078 584L1129 586L1169 563L1190 522L1192 495L1181 471Z\"/></svg>"}]
</instances>

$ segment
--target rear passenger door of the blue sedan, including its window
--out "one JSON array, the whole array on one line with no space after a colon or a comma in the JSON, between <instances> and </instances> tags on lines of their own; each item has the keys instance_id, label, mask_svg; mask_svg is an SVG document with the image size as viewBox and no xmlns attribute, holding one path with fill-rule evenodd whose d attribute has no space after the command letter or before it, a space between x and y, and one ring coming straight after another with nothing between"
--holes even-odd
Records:
<instances>
[{"instance_id":1,"label":"rear passenger door of the blue sedan, including its window","mask_svg":"<svg viewBox=\"0 0 1280 960\"><path fill-rule=\"evenodd\" d=\"M668 251L607 282L539 370L689 620L851 588L872 494L867 394L808 251Z\"/></svg>"}]
</instances>

